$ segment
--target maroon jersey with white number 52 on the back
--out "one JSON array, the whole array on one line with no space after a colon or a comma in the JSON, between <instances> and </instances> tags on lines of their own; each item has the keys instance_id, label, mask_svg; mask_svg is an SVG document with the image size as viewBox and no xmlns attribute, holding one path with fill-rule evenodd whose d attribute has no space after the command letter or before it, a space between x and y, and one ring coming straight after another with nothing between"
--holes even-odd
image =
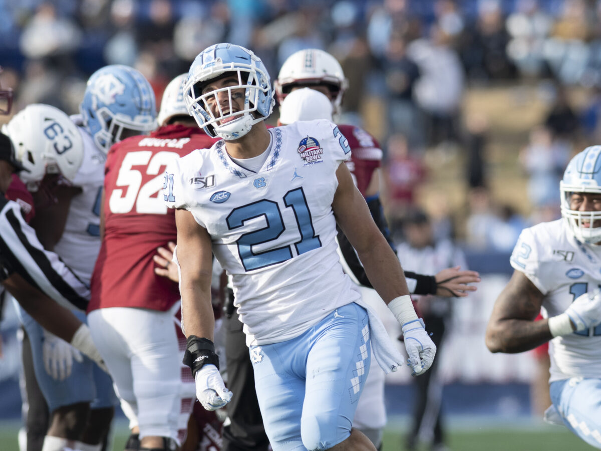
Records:
<instances>
[{"instance_id":1,"label":"maroon jersey with white number 52 on the back","mask_svg":"<svg viewBox=\"0 0 601 451\"><path fill-rule=\"evenodd\" d=\"M104 238L88 312L105 307L166 311L180 299L176 283L154 274L157 247L177 238L175 210L163 200L165 167L215 141L196 127L168 125L111 148L105 166Z\"/></svg>"}]
</instances>

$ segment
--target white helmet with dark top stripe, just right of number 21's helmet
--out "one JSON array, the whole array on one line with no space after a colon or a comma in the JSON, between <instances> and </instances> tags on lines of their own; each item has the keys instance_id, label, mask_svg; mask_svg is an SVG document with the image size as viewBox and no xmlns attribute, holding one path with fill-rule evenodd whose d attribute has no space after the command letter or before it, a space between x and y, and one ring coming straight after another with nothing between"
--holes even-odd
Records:
<instances>
[{"instance_id":1,"label":"white helmet with dark top stripe, just right of number 21's helmet","mask_svg":"<svg viewBox=\"0 0 601 451\"><path fill-rule=\"evenodd\" d=\"M300 50L284 61L274 83L279 104L284 102L292 88L299 85L328 87L334 114L340 114L344 91L349 87L349 81L344 76L340 63L328 52L320 49Z\"/></svg>"}]
</instances>

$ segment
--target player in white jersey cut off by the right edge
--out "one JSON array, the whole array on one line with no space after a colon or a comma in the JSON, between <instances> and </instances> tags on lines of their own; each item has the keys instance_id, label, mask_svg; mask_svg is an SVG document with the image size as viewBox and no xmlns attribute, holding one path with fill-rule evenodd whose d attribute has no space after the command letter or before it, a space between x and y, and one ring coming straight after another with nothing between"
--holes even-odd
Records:
<instances>
[{"instance_id":1,"label":"player in white jersey cut off by the right edge","mask_svg":"<svg viewBox=\"0 0 601 451\"><path fill-rule=\"evenodd\" d=\"M549 341L551 422L601 447L601 146L587 147L560 182L561 219L524 229L511 280L486 330L492 352ZM544 319L534 321L542 308Z\"/></svg>"}]
</instances>

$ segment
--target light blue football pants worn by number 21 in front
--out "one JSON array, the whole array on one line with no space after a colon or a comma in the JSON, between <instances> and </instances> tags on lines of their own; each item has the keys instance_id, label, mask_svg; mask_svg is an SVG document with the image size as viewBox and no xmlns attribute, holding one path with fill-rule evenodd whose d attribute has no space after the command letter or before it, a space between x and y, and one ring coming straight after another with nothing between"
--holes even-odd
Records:
<instances>
[{"instance_id":1,"label":"light blue football pants worn by number 21 in front","mask_svg":"<svg viewBox=\"0 0 601 451\"><path fill-rule=\"evenodd\" d=\"M301 336L249 352L274 451L325 450L349 437L371 360L364 308L344 305Z\"/></svg>"}]
</instances>

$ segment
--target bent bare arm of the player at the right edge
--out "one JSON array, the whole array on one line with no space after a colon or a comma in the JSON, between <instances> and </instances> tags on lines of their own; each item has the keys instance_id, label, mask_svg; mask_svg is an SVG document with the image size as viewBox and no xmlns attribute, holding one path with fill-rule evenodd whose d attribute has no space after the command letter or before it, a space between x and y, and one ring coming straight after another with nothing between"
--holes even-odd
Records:
<instances>
[{"instance_id":1,"label":"bent bare arm of the player at the right edge","mask_svg":"<svg viewBox=\"0 0 601 451\"><path fill-rule=\"evenodd\" d=\"M490 314L485 337L490 351L529 351L552 339L547 320L534 321L543 297L522 272L514 271Z\"/></svg>"}]
</instances>

